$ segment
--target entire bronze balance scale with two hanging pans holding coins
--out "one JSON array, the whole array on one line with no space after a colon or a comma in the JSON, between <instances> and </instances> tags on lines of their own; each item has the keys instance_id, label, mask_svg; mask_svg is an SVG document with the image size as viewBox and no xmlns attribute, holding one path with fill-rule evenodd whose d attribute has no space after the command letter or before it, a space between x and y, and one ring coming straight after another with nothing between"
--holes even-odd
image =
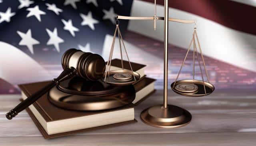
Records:
<instances>
[{"instance_id":1,"label":"entire bronze balance scale with two hanging pans holding coins","mask_svg":"<svg viewBox=\"0 0 256 146\"><path fill-rule=\"evenodd\" d=\"M132 66L130 64L130 60L126 51L126 47L124 45L124 41L119 29L119 20L152 20L154 22L154 30L156 30L156 20L164 20L164 103L163 105L156 105L153 107L149 107L141 112L140 117L142 121L148 125L155 126L155 127L162 127L162 128L174 128L180 127L188 124L191 121L192 115L185 109L177 107L175 105L168 105L168 22L179 22L185 24L195 24L194 25L194 32L192 35L192 39L190 41L188 50L180 67L180 71L175 79L175 81L171 84L171 89L180 95L187 96L187 97L202 97L211 94L215 87L209 81L208 71L206 69L206 64L204 61L204 56L202 54L201 45L198 39L197 31L196 31L196 22L195 20L181 20L181 19L174 19L169 18L169 10L168 10L168 0L164 0L164 17L156 16L156 0L154 1L155 5L155 14L151 17L130 17L130 16L116 16L116 30L114 32L114 38L112 42L112 46L110 49L110 55L108 58L107 63L107 70L104 77L104 82L112 85L122 85L122 84L131 84L135 83L139 78L140 75L132 70ZM114 43L116 39L116 33L118 33L119 37L119 45L120 45L120 55L121 60L123 61L122 57L122 47L124 47L124 51L126 53L126 57L130 64L131 70L124 70L123 62L122 62L122 70L110 71L111 66L111 59L114 50ZM121 43L122 42L122 43ZM188 56L190 47L193 45L193 79L186 79L186 80L178 80L178 77L182 71L182 67L186 61ZM198 53L198 49L200 54ZM202 80L195 79L195 56L197 58L201 77ZM200 63L200 57L202 59L202 63L204 66L204 71L207 77L207 81L204 80L202 67ZM121 80L116 77L120 76ZM120 82L119 82L119 81Z\"/></svg>"}]
</instances>

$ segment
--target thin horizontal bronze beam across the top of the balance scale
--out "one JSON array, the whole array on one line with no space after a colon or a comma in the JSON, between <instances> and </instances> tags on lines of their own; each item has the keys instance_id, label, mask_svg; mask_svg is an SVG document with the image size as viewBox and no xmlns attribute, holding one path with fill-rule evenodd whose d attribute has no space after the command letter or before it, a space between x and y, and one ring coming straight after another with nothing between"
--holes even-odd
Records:
<instances>
[{"instance_id":1,"label":"thin horizontal bronze beam across the top of the balance scale","mask_svg":"<svg viewBox=\"0 0 256 146\"><path fill-rule=\"evenodd\" d=\"M116 16L116 19L124 19L124 20L154 20L154 16L148 17L132 17L132 16ZM156 17L156 20L164 20L164 17ZM169 21L172 22L180 22L180 23L195 23L195 20L183 20L183 19L175 19L168 18Z\"/></svg>"}]
</instances>

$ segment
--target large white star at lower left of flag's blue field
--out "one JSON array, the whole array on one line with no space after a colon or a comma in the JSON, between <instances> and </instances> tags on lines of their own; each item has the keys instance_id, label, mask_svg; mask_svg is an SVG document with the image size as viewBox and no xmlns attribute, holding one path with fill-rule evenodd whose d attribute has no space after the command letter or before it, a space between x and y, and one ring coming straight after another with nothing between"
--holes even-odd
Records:
<instances>
[{"instance_id":1,"label":"large white star at lower left of flag's blue field","mask_svg":"<svg viewBox=\"0 0 256 146\"><path fill-rule=\"evenodd\" d=\"M29 49L29 51L34 54L33 45L40 44L39 41L32 38L31 30L29 29L26 34L23 32L17 31L18 35L22 38L19 45L26 45Z\"/></svg>"}]
</instances>

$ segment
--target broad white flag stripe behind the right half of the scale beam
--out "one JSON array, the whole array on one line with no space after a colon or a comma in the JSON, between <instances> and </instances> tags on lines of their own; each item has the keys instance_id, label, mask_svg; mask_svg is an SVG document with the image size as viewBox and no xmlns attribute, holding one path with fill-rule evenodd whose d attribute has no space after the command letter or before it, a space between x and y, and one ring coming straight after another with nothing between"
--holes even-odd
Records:
<instances>
[{"instance_id":1,"label":"broad white flag stripe behind the right half of the scale beam","mask_svg":"<svg viewBox=\"0 0 256 146\"><path fill-rule=\"evenodd\" d=\"M152 3L134 0L131 16L148 16L150 13L154 14L154 11L148 12L148 10L153 9L154 4ZM197 20L198 37L203 47L204 55L243 69L256 71L256 58L252 56L255 52L256 36L227 28L216 22L182 10L169 8L169 11L174 18ZM163 12L163 6L158 5L157 13L162 15ZM153 22L131 20L128 30L160 41L164 40L164 26L160 21L157 22L157 30L154 31ZM168 40L173 45L187 48L192 38L193 30L194 28L191 24L170 22Z\"/></svg>"}]
</instances>

